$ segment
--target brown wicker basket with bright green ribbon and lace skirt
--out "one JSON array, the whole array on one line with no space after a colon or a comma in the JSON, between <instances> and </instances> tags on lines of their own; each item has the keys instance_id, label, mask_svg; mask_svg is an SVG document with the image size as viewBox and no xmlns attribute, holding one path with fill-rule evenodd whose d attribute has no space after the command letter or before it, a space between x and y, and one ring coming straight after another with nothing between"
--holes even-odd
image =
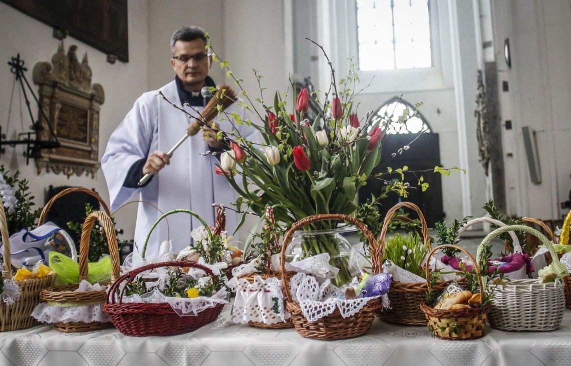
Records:
<instances>
[{"instance_id":1,"label":"brown wicker basket with bright green ribbon and lace skirt","mask_svg":"<svg viewBox=\"0 0 571 366\"><path fill-rule=\"evenodd\" d=\"M112 284L119 277L119 251L117 247L115 227L113 226L109 216L102 211L94 211L90 213L87 215L85 222L83 222L81 239L79 241L79 282L87 279L89 239L91 234L91 227L93 226L95 219L99 220L100 225L105 231L105 235L107 237L107 245L109 247L109 253L111 256L111 282L101 284ZM74 290L77 290L78 287L79 283L49 287L41 292L40 298L47 304L65 307L103 304L105 302L106 290L74 292ZM108 327L111 327L111 323L70 322L54 324L54 328L56 330L66 333L87 332Z\"/></svg>"}]
</instances>

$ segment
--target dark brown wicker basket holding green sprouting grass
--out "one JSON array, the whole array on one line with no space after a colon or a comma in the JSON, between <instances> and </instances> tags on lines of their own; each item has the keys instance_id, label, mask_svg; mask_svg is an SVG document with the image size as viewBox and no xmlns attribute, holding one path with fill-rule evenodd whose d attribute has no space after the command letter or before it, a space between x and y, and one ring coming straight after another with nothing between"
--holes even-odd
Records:
<instances>
[{"instance_id":1,"label":"dark brown wicker basket holding green sprouting grass","mask_svg":"<svg viewBox=\"0 0 571 366\"><path fill-rule=\"evenodd\" d=\"M391 224L391 218L397 210L401 208L409 208L415 211L419 215L420 219L420 230L421 238L423 243L428 243L428 249L431 250L430 238L428 236L428 225L421 212L419 206L412 204L411 202L400 202L388 210L387 215L385 215L385 222L383 223L383 229L381 229L379 237L379 247L382 250L381 258L384 258L385 253L385 236L389 225ZM406 217L398 217L400 219L407 219ZM427 257L430 258L430 257ZM448 282L440 282L433 287L435 291L442 291L446 287ZM411 326L424 326L427 323L426 316L420 311L419 304L424 300L424 293L428 291L428 284L425 282L407 283L407 282L391 282L391 290L389 290L388 296L391 300L391 308L386 310L381 310L377 315L387 322L408 324Z\"/></svg>"}]
</instances>

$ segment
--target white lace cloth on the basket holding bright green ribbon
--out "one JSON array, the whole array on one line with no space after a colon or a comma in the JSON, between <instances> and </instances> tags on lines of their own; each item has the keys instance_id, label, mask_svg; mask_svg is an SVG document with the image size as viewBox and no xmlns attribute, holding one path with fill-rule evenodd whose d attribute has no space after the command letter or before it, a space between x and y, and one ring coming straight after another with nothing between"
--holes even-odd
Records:
<instances>
[{"instance_id":1,"label":"white lace cloth on the basket holding bright green ribbon","mask_svg":"<svg viewBox=\"0 0 571 366\"><path fill-rule=\"evenodd\" d=\"M99 283L91 284L83 280L74 292L101 291L105 288L107 286L101 286ZM109 322L108 315L103 312L103 303L83 306L58 306L39 303L31 316L41 323Z\"/></svg>"}]
</instances>

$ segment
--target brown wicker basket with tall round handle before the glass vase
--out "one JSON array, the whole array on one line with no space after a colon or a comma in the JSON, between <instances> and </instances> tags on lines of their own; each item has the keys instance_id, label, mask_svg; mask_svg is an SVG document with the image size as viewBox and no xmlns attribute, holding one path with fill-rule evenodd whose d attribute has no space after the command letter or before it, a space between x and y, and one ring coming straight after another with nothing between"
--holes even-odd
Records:
<instances>
[{"instance_id":1,"label":"brown wicker basket with tall round handle before the glass vase","mask_svg":"<svg viewBox=\"0 0 571 366\"><path fill-rule=\"evenodd\" d=\"M286 237L284 238L282 254L280 257L283 291L284 294L286 294L286 310L291 314L291 320L296 332L306 338L336 340L358 337L367 333L371 327L373 319L375 319L375 312L381 306L380 299L370 300L359 312L357 312L357 314L349 316L349 318L343 318L339 309L336 309L331 315L324 316L316 322L309 322L303 316L299 303L294 302L291 294L289 293L289 279L286 273L286 248L291 242L293 233L295 233L296 230L301 229L301 227L304 227L309 223L323 220L347 221L357 226L369 240L369 247L372 251L372 273L377 274L381 271L380 250L377 246L375 235L367 229L367 226L365 226L363 222L360 222L349 215L343 214L321 214L301 219L294 223L288 230Z\"/></svg>"}]
</instances>

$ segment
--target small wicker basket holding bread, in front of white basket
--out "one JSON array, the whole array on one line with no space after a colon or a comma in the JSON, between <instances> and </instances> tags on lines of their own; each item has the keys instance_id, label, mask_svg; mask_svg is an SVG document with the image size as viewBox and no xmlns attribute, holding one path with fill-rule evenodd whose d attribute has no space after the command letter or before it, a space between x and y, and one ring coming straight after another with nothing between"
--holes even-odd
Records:
<instances>
[{"instance_id":1,"label":"small wicker basket holding bread, in front of white basket","mask_svg":"<svg viewBox=\"0 0 571 366\"><path fill-rule=\"evenodd\" d=\"M463 248L456 245L440 245L435 249L432 249L428 257L430 258L435 251L442 248L449 247L454 249L459 249L463 251L472 260L472 263L476 263L474 258L470 253L468 253ZM480 284L480 293L484 293L484 284L482 283L482 276L480 274L480 269L475 265L476 273L478 276L478 284ZM428 266L426 267L427 278L429 276ZM428 288L430 289L430 283L428 282ZM435 309L428 306L425 301L421 302L420 310L424 312L428 320L428 328L432 330L432 334L439 337L440 339L477 339L484 336L486 330L486 322L488 321L487 312L489 310L489 305L484 307L467 308L467 309L452 309L443 310Z\"/></svg>"}]
</instances>

